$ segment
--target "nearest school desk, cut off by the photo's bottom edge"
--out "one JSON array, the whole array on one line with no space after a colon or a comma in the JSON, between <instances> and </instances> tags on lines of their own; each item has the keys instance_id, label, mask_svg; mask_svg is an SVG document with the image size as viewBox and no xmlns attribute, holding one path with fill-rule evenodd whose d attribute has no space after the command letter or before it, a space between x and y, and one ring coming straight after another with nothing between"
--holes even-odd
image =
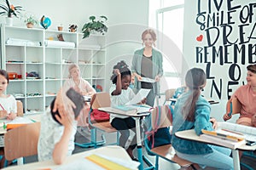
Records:
<instances>
[{"instance_id":1,"label":"nearest school desk, cut off by the photo's bottom edge","mask_svg":"<svg viewBox=\"0 0 256 170\"><path fill-rule=\"evenodd\" d=\"M49 170L49 169L95 169L93 164L89 164L92 162L88 162L85 160L85 156L90 156L92 154L97 154L99 156L108 156L108 157L113 157L116 159L120 159L123 161L126 161L126 164L130 164L131 167L136 167L138 162L132 161L131 157L127 154L124 148L120 146L114 146L114 145L108 145L108 146L102 146L100 148L94 149L94 150L86 150L84 152L80 152L77 154L73 154L72 156L67 156L66 161L62 165L56 165L54 161L37 161L37 162L32 162L32 163L27 163L21 166L11 166L4 168L6 170L11 170L11 169L40 169L40 170ZM83 166L83 162L78 163L79 161L87 161L87 164L85 162L85 165ZM96 168L98 169L98 168Z\"/></svg>"}]
</instances>

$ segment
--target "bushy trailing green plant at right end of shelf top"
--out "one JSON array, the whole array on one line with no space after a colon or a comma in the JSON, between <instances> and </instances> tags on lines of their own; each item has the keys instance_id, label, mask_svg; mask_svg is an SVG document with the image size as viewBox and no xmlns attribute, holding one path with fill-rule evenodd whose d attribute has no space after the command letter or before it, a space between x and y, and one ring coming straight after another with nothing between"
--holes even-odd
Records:
<instances>
[{"instance_id":1,"label":"bushy trailing green plant at right end of shelf top","mask_svg":"<svg viewBox=\"0 0 256 170\"><path fill-rule=\"evenodd\" d=\"M108 31L108 27L104 24L108 18L106 16L100 16L100 20L96 20L95 16L89 17L90 22L84 24L82 28L82 32L84 33L84 37L89 37L91 31L100 32L104 35L105 32Z\"/></svg>"}]
</instances>

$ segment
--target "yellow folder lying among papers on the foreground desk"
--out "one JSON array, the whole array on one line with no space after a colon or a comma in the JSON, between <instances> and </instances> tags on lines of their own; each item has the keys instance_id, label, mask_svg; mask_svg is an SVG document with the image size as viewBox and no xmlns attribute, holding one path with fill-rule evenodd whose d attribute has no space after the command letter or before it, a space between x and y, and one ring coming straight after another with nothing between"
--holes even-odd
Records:
<instances>
[{"instance_id":1,"label":"yellow folder lying among papers on the foreground desk","mask_svg":"<svg viewBox=\"0 0 256 170\"><path fill-rule=\"evenodd\" d=\"M107 170L131 170L131 168L124 167L116 162L109 161L108 159L105 159L102 156L97 156L97 155L90 155L86 156L86 159L96 163L97 165L106 168Z\"/></svg>"}]
</instances>

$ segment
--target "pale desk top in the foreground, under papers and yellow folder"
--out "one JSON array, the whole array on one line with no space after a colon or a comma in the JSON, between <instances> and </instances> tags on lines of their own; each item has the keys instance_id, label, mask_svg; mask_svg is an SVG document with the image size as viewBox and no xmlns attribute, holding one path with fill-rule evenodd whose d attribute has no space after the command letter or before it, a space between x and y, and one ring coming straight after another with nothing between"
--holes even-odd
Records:
<instances>
[{"instance_id":1,"label":"pale desk top in the foreground, under papers and yellow folder","mask_svg":"<svg viewBox=\"0 0 256 170\"><path fill-rule=\"evenodd\" d=\"M73 161L77 161L79 159L84 158L84 156L89 156L90 154L100 154L103 156L111 156L111 157L116 157L122 160L127 160L131 161L131 157L127 154L124 148L120 146L103 146L94 150L86 150L84 152L80 152L78 154L73 154L72 156L67 157L67 161L65 161L64 164L62 165L55 165L54 161L38 161L38 162L33 162L33 163L27 163L21 166L12 166L12 167L7 167L4 168L6 170L8 169L41 169L41 170L46 170L46 169L55 169L59 167L60 169L65 169L65 165L72 164ZM79 165L76 165L80 167ZM62 168L61 168L62 167ZM91 169L91 167L83 168L83 169Z\"/></svg>"}]
</instances>

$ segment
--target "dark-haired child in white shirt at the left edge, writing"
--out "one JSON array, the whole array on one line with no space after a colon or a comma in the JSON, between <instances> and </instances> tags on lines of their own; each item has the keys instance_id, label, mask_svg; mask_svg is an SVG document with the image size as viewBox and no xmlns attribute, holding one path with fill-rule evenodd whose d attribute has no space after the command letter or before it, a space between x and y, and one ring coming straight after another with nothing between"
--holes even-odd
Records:
<instances>
[{"instance_id":1,"label":"dark-haired child in white shirt at the left edge, writing","mask_svg":"<svg viewBox=\"0 0 256 170\"><path fill-rule=\"evenodd\" d=\"M13 95L4 94L8 84L8 73L0 70L0 119L14 120L17 116L17 103ZM0 148L0 155L3 156L0 161L0 167L3 167L5 161L3 148Z\"/></svg>"}]
</instances>

